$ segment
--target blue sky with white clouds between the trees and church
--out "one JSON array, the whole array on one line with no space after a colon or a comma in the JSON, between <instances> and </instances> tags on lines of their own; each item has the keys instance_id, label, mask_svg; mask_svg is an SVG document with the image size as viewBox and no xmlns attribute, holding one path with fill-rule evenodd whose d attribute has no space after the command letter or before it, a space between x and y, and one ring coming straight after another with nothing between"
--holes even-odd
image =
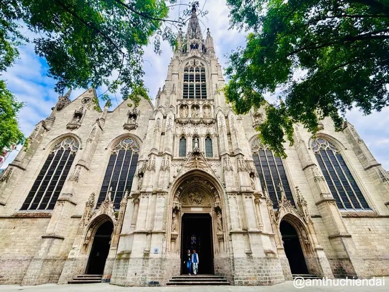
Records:
<instances>
[{"instance_id":1,"label":"blue sky with white clouds between the trees and church","mask_svg":"<svg viewBox=\"0 0 389 292\"><path fill-rule=\"evenodd\" d=\"M188 1L182 0L182 3ZM245 33L236 30L228 30L228 8L225 0L200 1L200 6L209 14L201 18L201 27L205 36L206 28L209 27L214 40L216 55L222 67L226 67L226 53L238 46L245 45ZM171 11L171 18L176 18L178 8ZM32 37L26 30L25 34ZM152 46L149 45L144 55L145 84L150 89L150 97L154 98L158 88L164 83L167 66L170 62L172 51L164 43L162 54L155 55ZM7 80L8 88L13 91L19 101L26 103L20 111L19 125L26 136L29 136L37 122L50 115L51 108L55 105L58 95L53 91L55 81L46 76L47 64L44 59L34 53L34 47L27 44L20 48L20 59L16 64L4 73L1 78ZM71 99L76 98L84 92L84 89L75 89L71 93ZM98 93L101 90L97 90ZM120 100L119 100L120 102ZM113 102L115 107L116 101ZM364 139L371 152L389 169L389 109L370 116L363 116L358 110L347 114L347 119L355 126L358 133ZM5 168L15 158L17 151L14 151L2 168Z\"/></svg>"}]
</instances>

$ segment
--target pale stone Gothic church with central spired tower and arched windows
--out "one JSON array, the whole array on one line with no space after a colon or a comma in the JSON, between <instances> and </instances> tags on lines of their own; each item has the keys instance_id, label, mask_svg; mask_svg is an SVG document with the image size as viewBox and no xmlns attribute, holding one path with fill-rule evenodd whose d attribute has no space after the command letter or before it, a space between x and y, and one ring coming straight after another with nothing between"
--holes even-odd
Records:
<instances>
[{"instance_id":1,"label":"pale stone Gothic church with central spired tower and arched windows","mask_svg":"<svg viewBox=\"0 0 389 292\"><path fill-rule=\"evenodd\" d=\"M188 249L231 285L389 275L389 175L353 125L295 125L275 156L264 110L226 103L192 14L155 105L101 110L94 89L69 91L36 125L0 177L0 283L166 285Z\"/></svg>"}]
</instances>

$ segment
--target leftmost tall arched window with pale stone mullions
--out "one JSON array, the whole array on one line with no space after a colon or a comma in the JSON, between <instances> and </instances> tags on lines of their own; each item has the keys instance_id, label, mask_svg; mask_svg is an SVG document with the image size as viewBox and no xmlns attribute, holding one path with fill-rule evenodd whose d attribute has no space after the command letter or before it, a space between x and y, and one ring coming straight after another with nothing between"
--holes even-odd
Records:
<instances>
[{"instance_id":1,"label":"leftmost tall arched window with pale stone mullions","mask_svg":"<svg viewBox=\"0 0 389 292\"><path fill-rule=\"evenodd\" d=\"M53 210L77 150L78 141L72 137L53 146L21 210Z\"/></svg>"}]
</instances>

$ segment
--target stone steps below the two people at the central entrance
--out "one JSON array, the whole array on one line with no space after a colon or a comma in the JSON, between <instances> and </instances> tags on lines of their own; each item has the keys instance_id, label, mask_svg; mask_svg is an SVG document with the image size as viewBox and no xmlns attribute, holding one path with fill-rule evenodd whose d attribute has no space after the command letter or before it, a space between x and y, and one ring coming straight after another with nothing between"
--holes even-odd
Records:
<instances>
[{"instance_id":1,"label":"stone steps below the two people at the central entrance","mask_svg":"<svg viewBox=\"0 0 389 292\"><path fill-rule=\"evenodd\" d=\"M230 285L226 277L215 275L181 275L172 277L167 286Z\"/></svg>"}]
</instances>

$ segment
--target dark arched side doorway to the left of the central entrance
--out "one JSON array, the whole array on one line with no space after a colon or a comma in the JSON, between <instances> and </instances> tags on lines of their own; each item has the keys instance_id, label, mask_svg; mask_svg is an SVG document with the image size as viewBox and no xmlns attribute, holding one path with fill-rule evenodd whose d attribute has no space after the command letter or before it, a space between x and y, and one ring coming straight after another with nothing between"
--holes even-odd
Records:
<instances>
[{"instance_id":1,"label":"dark arched side doorway to the left of the central entrance","mask_svg":"<svg viewBox=\"0 0 389 292\"><path fill-rule=\"evenodd\" d=\"M102 275L106 258L109 253L109 241L113 232L113 224L106 221L100 225L93 238L92 249L89 254L87 274Z\"/></svg>"}]
</instances>

